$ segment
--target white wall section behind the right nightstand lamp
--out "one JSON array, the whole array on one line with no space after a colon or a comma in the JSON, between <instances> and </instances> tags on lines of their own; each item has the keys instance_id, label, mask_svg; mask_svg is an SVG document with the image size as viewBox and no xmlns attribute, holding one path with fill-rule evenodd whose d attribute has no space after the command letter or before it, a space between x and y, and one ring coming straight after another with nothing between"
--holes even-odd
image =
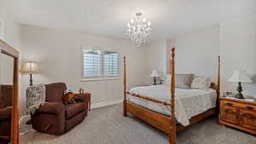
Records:
<instances>
[{"instance_id":1,"label":"white wall section behind the right nightstand lamp","mask_svg":"<svg viewBox=\"0 0 256 144\"><path fill-rule=\"evenodd\" d=\"M236 91L228 82L235 69L247 71L254 84L244 84L245 94L256 98L256 14L227 20L220 24L220 50L223 57L224 89Z\"/></svg>"}]
</instances>

